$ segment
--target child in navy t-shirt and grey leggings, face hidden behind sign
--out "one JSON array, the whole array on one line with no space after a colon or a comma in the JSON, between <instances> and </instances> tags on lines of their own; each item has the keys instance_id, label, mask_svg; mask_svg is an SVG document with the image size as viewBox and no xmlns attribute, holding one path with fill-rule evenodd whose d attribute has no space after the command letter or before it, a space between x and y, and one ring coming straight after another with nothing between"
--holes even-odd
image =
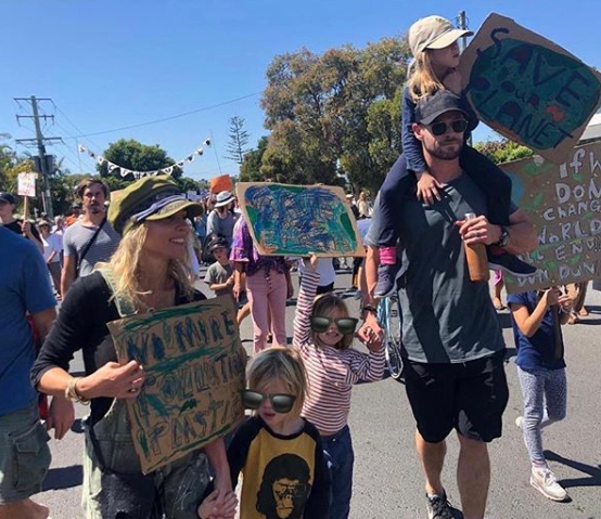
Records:
<instances>
[{"instance_id":1,"label":"child in navy t-shirt and grey leggings, face hidden behind sign","mask_svg":"<svg viewBox=\"0 0 601 519\"><path fill-rule=\"evenodd\" d=\"M542 451L541 429L565 417L566 379L561 324L572 310L572 299L558 287L512 294L513 336L517 376L524 398L524 416L515 424L524 431L532 462L530 484L553 501L567 498L549 469Z\"/></svg>"}]
</instances>

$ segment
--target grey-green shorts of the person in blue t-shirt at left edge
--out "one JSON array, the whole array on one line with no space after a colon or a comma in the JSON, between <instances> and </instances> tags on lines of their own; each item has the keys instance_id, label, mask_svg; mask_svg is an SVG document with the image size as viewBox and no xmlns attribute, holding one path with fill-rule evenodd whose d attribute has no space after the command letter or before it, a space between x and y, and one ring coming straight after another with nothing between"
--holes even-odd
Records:
<instances>
[{"instance_id":1,"label":"grey-green shorts of the person in blue t-shirt at left edge","mask_svg":"<svg viewBox=\"0 0 601 519\"><path fill-rule=\"evenodd\" d=\"M26 499L41 491L50 467L49 439L37 402L0 416L0 505Z\"/></svg>"}]
</instances>

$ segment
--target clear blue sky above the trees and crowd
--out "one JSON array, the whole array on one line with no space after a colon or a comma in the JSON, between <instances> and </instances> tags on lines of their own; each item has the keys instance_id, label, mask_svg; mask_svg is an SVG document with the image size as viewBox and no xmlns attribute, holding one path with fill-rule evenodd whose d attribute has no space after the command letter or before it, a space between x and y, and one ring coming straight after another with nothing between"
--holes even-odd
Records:
<instances>
[{"instance_id":1,"label":"clear blue sky above the trees and crowd","mask_svg":"<svg viewBox=\"0 0 601 519\"><path fill-rule=\"evenodd\" d=\"M246 119L252 145L267 133L259 92L274 55L302 47L363 47L400 36L430 14L452 20L464 10L476 30L495 11L601 68L598 0L3 0L1 9L0 132L34 137L31 124L20 127L15 120L27 105L20 107L13 98L52 98L57 108L41 107L55 115L56 125L44 134L63 137L65 145L49 152L64 156L73 172L80 165L91 171L93 164L69 138L220 105L79 142L102 153L111 142L133 138L180 159L213 133L214 148L184 174L236 173L238 165L223 157L228 120ZM475 138L488 135L483 128Z\"/></svg>"}]
</instances>

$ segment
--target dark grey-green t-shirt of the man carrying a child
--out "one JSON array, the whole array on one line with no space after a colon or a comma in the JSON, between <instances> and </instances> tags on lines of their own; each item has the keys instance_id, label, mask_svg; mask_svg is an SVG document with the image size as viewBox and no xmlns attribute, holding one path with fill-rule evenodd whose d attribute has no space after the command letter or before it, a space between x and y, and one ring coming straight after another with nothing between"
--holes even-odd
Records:
<instances>
[{"instance_id":1,"label":"dark grey-green t-shirt of the man carrying a child","mask_svg":"<svg viewBox=\"0 0 601 519\"><path fill-rule=\"evenodd\" d=\"M429 206L408 194L399 207L406 270L399 289L404 355L427 363L459 363L504 349L487 283L470 281L456 224L486 215L484 194L466 176L442 189Z\"/></svg>"}]
</instances>

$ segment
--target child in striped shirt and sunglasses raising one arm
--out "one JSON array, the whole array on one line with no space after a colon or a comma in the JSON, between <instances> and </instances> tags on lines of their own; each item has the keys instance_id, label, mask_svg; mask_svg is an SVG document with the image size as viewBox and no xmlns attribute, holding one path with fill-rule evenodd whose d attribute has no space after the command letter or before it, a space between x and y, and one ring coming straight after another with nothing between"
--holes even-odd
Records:
<instances>
[{"instance_id":1,"label":"child in striped shirt and sunglasses raising one arm","mask_svg":"<svg viewBox=\"0 0 601 519\"><path fill-rule=\"evenodd\" d=\"M294 317L294 347L309 378L303 416L319 430L331 476L331 519L348 518L353 492L354 452L348 429L353 385L380 380L384 350L375 337L367 340L369 353L350 346L357 319L349 317L344 301L334 294L316 299L319 274L317 257L305 262Z\"/></svg>"}]
</instances>

